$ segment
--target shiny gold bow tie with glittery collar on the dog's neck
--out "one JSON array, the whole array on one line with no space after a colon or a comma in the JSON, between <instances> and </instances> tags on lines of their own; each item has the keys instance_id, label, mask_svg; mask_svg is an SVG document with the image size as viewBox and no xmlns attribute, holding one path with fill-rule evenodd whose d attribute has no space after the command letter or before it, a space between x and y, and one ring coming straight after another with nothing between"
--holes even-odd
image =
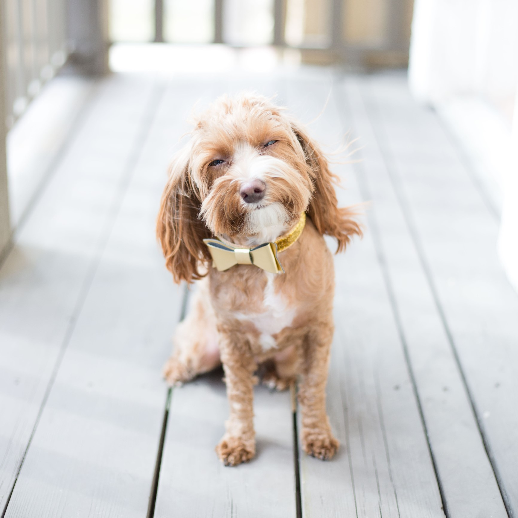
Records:
<instances>
[{"instance_id":1,"label":"shiny gold bow tie with glittery collar on the dog's neck","mask_svg":"<svg viewBox=\"0 0 518 518\"><path fill-rule=\"evenodd\" d=\"M236 264L253 264L272 274L283 274L284 269L277 254L291 247L299 238L306 225L306 213L300 214L295 227L288 234L281 236L275 243L263 243L254 248L237 247L220 239L204 239L212 256L212 266L219 271L228 270Z\"/></svg>"}]
</instances>

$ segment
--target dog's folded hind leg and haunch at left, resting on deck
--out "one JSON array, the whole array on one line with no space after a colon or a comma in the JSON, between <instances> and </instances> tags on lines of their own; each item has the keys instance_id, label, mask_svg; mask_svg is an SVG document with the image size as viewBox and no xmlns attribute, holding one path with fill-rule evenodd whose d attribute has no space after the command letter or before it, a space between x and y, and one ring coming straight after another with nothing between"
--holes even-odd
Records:
<instances>
[{"instance_id":1,"label":"dog's folded hind leg and haunch at left, resting on deck","mask_svg":"<svg viewBox=\"0 0 518 518\"><path fill-rule=\"evenodd\" d=\"M191 308L176 328L174 350L164 366L170 385L192 380L221 364L214 311L207 293L207 282L199 281Z\"/></svg>"}]
</instances>

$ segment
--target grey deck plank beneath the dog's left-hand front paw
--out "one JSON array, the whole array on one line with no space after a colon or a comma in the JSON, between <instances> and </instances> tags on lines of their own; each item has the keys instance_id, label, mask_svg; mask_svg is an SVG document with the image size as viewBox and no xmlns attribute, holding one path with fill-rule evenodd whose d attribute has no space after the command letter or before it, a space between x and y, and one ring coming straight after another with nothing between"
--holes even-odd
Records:
<instances>
[{"instance_id":1,"label":"grey deck plank beneath the dog's left-hand front paw","mask_svg":"<svg viewBox=\"0 0 518 518\"><path fill-rule=\"evenodd\" d=\"M275 76L236 75L214 83L207 94L215 98L243 90L282 96L283 85ZM214 451L228 418L221 378L222 372L214 373L173 390L155 516L295 516L289 394L256 387L256 457L225 467Z\"/></svg>"}]
</instances>

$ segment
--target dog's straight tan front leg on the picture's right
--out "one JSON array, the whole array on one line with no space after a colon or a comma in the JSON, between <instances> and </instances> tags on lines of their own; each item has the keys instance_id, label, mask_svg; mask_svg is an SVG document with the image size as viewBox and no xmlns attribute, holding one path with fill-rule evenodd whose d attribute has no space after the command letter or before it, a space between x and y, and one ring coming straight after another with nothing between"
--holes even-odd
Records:
<instances>
[{"instance_id":1,"label":"dog's straight tan front leg on the picture's right","mask_svg":"<svg viewBox=\"0 0 518 518\"><path fill-rule=\"evenodd\" d=\"M325 386L333 323L316 327L304 344L304 366L298 400L302 412L301 442L304 451L327 461L338 449L325 410Z\"/></svg>"}]
</instances>

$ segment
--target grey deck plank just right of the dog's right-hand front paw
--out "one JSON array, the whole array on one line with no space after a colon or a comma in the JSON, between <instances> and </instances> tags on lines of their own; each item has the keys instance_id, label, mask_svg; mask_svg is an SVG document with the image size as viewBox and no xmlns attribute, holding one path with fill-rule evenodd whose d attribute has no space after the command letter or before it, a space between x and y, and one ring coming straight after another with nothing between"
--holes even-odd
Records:
<instances>
[{"instance_id":1,"label":"grey deck plank just right of the dog's right-hand front paw","mask_svg":"<svg viewBox=\"0 0 518 518\"><path fill-rule=\"evenodd\" d=\"M331 87L293 85L289 99L318 115ZM295 104L294 103L294 104ZM327 150L342 129L330 105L310 127ZM334 166L342 175L347 170ZM354 178L341 203L361 201ZM342 448L329 463L301 453L305 516L443 516L418 406L386 294L370 229L336 257L337 326L328 386L328 409Z\"/></svg>"}]
</instances>

